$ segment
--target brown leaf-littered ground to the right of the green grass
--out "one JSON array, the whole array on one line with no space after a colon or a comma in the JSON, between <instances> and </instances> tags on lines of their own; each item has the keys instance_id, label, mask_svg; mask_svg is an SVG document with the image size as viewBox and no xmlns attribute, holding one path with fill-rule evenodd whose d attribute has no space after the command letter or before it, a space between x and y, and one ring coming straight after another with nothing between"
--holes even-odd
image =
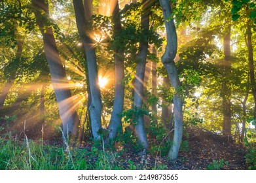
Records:
<instances>
[{"instance_id":1,"label":"brown leaf-littered ground to the right of the green grass","mask_svg":"<svg viewBox=\"0 0 256 183\"><path fill-rule=\"evenodd\" d=\"M151 153L138 153L131 146L124 145L125 150L115 157L115 163L122 169L248 169L246 148L242 144L228 141L221 135L196 127L186 129L186 133L187 137L183 140L188 142L188 147L179 152L175 161L159 154L156 156ZM88 150L91 147L90 144L84 144L84 148ZM89 161L93 164L97 157Z\"/></svg>"}]
</instances>

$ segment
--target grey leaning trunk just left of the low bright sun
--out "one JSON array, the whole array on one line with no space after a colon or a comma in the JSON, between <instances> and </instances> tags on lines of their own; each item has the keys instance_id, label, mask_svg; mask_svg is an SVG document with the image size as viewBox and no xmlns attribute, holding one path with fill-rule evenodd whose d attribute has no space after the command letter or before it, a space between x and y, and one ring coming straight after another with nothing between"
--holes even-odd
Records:
<instances>
[{"instance_id":1,"label":"grey leaning trunk just left of the low bright sun","mask_svg":"<svg viewBox=\"0 0 256 183\"><path fill-rule=\"evenodd\" d=\"M73 5L75 9L75 16L77 22L77 29L79 31L79 35L84 45L84 52L86 55L86 63L88 68L88 80L90 86L90 92L92 97L92 102L90 104L90 120L92 125L92 135L94 139L100 140L100 135L98 131L101 129L101 93L100 86L98 81L98 68L96 61L96 52L95 52L95 44L89 36L88 31L88 19L92 13L91 5L88 4L88 1L84 1L84 5L82 4L82 0L73 0Z\"/></svg>"}]
</instances>

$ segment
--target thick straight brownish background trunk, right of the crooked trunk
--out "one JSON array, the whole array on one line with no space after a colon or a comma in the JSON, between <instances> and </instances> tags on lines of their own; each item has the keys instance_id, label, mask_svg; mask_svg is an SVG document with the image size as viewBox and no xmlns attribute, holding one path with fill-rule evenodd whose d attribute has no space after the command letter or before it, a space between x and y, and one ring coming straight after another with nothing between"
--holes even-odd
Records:
<instances>
[{"instance_id":1,"label":"thick straight brownish background trunk, right of the crooked trunk","mask_svg":"<svg viewBox=\"0 0 256 183\"><path fill-rule=\"evenodd\" d=\"M223 64L223 135L226 137L231 136L231 89L229 86L229 75L231 69L231 51L230 51L230 31L231 27L229 25L227 35L225 35L223 40L223 50L224 50L224 61Z\"/></svg>"}]
</instances>

